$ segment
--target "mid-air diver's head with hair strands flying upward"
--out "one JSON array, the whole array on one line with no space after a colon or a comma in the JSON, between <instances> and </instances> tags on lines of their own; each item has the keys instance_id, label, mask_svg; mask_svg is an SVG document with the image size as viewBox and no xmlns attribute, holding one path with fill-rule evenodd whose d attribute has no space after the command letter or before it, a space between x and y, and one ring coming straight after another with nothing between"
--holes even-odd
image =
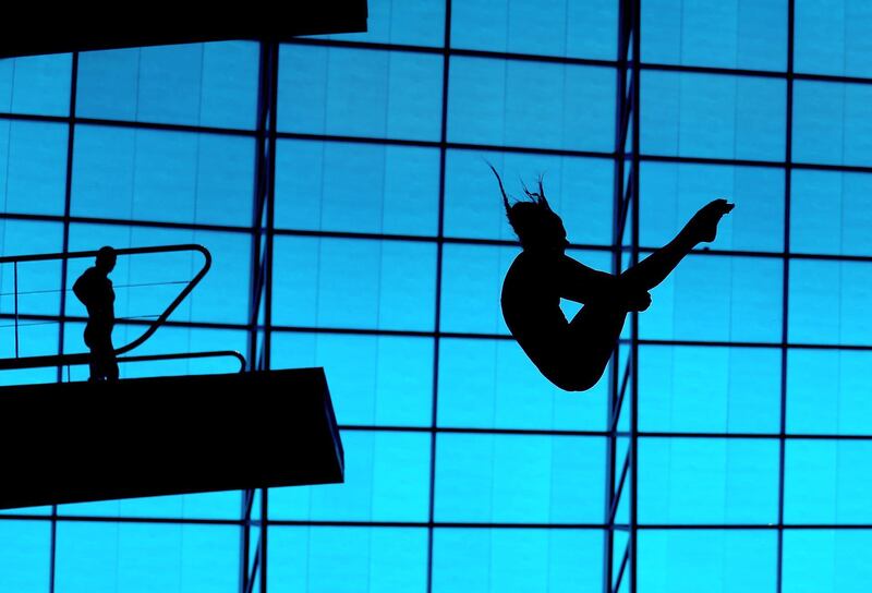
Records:
<instances>
[{"instance_id":1,"label":"mid-air diver's head with hair strands flying upward","mask_svg":"<svg viewBox=\"0 0 872 593\"><path fill-rule=\"evenodd\" d=\"M531 192L526 185L523 185L528 199L509 204L509 196L502 187L499 173L493 165L491 165L491 170L494 171L499 183L506 217L524 251L564 253L569 245L564 221L548 205L542 178L538 180L538 192Z\"/></svg>"}]
</instances>

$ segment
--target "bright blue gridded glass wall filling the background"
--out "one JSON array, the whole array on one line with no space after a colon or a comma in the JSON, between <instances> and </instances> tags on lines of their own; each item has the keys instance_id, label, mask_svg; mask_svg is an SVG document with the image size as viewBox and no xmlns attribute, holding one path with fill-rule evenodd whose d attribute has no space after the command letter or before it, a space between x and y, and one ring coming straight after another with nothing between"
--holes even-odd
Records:
<instances>
[{"instance_id":1,"label":"bright blue gridded glass wall filling the background","mask_svg":"<svg viewBox=\"0 0 872 593\"><path fill-rule=\"evenodd\" d=\"M544 173L571 255L610 269L618 3L462 0L450 23L445 0L368 3L368 33L279 55L270 364L326 368L347 482L270 491L268 590L601 590L607 380L559 391L506 339L519 247L484 159L516 194ZM642 0L640 242L714 197L737 208L712 245L726 254L688 257L640 316L639 428L661 433L639 440L641 592L872 586L870 26L863 0ZM71 251L215 257L141 352L244 352L259 52L83 52L75 81L70 55L0 60L0 253L62 251L69 168ZM19 307L59 315L87 265L64 287L60 264L22 265ZM197 267L120 259L117 315L159 314ZM0 266L0 313L13 283ZM25 322L21 354L82 351L83 324L63 329ZM0 513L0 591L237 591L240 508L217 493Z\"/></svg>"}]
</instances>

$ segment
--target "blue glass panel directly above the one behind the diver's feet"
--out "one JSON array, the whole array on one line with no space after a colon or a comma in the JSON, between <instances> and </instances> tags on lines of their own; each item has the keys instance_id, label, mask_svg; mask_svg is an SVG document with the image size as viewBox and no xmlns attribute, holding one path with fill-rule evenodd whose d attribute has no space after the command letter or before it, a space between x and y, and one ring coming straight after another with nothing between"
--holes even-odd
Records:
<instances>
[{"instance_id":1,"label":"blue glass panel directly above the one behind the diver's feet","mask_svg":"<svg viewBox=\"0 0 872 593\"><path fill-rule=\"evenodd\" d=\"M643 153L784 158L784 81L645 71L641 93Z\"/></svg>"}]
</instances>

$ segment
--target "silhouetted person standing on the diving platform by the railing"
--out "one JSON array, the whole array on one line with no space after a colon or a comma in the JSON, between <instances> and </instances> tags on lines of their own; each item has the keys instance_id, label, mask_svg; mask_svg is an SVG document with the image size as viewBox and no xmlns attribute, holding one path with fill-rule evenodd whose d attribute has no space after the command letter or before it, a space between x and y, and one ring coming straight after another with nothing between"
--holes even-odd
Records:
<instances>
[{"instance_id":1,"label":"silhouetted person standing on the diving platform by the railing","mask_svg":"<svg viewBox=\"0 0 872 593\"><path fill-rule=\"evenodd\" d=\"M116 325L116 292L109 273L116 267L116 250L106 246L97 252L94 267L78 277L73 292L88 310L85 326L85 344L90 349L90 378L88 380L118 380L118 363L112 346Z\"/></svg>"}]
</instances>

